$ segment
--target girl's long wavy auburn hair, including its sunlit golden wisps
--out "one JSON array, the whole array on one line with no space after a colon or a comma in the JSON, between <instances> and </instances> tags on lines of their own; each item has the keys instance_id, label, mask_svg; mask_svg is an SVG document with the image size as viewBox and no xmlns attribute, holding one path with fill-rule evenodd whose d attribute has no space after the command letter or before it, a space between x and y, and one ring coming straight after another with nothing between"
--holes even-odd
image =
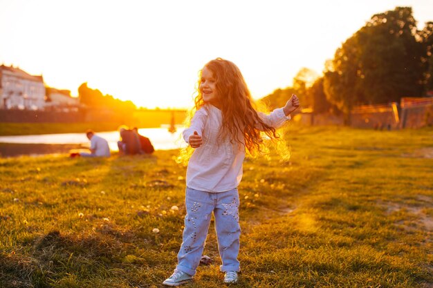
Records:
<instances>
[{"instance_id":1,"label":"girl's long wavy auburn hair, including its sunlit golden wisps","mask_svg":"<svg viewBox=\"0 0 433 288\"><path fill-rule=\"evenodd\" d=\"M269 112L264 102L258 102L259 107L253 102L250 90L239 68L231 61L216 58L205 64L206 68L212 71L216 81L217 101L221 106L222 127L219 131L223 140L229 137L230 142L234 141L245 146L247 156L257 157L264 155L269 157L269 152L274 151L281 161L288 161L291 157L291 149L284 137L279 137L272 126L268 126L257 113ZM204 68L203 67L203 68ZM190 126L192 117L196 111L205 106L203 95L200 91L200 84L203 69L199 71L199 79L195 86L194 107L187 114L183 122L185 127ZM280 128L285 134L288 128ZM279 130L280 130L279 129ZM243 141L240 137L243 135ZM176 162L187 165L194 148L183 146L179 151Z\"/></svg>"}]
</instances>

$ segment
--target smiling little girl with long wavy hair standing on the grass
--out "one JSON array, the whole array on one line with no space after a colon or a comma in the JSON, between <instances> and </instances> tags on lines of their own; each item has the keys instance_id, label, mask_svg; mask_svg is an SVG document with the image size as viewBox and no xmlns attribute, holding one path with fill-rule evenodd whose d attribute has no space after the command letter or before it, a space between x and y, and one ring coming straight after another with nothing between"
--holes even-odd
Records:
<instances>
[{"instance_id":1,"label":"smiling little girl with long wavy hair standing on the grass","mask_svg":"<svg viewBox=\"0 0 433 288\"><path fill-rule=\"evenodd\" d=\"M179 286L192 280L199 266L212 213L215 218L224 282L238 280L239 194L246 150L261 151L261 132L277 137L275 129L300 105L292 95L286 106L270 115L257 113L241 71L217 58L200 73L196 113L183 138L194 148L186 175L185 229L178 265L163 284Z\"/></svg>"}]
</instances>

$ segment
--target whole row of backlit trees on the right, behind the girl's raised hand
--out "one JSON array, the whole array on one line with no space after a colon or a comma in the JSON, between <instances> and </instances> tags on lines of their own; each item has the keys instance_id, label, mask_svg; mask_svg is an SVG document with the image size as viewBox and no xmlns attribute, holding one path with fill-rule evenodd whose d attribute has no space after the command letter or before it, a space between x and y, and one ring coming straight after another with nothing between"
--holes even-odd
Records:
<instances>
[{"instance_id":1,"label":"whole row of backlit trees on the right, behind the girl's raised hand","mask_svg":"<svg viewBox=\"0 0 433 288\"><path fill-rule=\"evenodd\" d=\"M399 102L433 90L433 21L422 30L410 7L373 15L326 61L323 74L302 68L293 85L262 100L271 108L284 105L292 93L315 113L343 113L349 122L354 106Z\"/></svg>"}]
</instances>

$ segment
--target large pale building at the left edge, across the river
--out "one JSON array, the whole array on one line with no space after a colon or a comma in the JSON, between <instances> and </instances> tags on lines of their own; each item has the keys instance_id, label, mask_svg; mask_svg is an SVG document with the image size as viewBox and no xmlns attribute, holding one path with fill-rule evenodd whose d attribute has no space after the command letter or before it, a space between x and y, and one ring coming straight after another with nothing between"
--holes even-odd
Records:
<instances>
[{"instance_id":1,"label":"large pale building at the left edge, across the river","mask_svg":"<svg viewBox=\"0 0 433 288\"><path fill-rule=\"evenodd\" d=\"M42 75L33 76L13 66L0 66L0 109L43 110Z\"/></svg>"}]
</instances>

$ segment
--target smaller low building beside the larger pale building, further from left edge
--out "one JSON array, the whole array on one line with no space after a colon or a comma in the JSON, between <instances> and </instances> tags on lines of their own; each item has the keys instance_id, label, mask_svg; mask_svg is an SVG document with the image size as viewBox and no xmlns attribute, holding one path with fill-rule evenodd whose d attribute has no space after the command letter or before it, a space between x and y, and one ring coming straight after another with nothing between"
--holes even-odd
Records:
<instances>
[{"instance_id":1,"label":"smaller low building beside the larger pale building, further from left edge","mask_svg":"<svg viewBox=\"0 0 433 288\"><path fill-rule=\"evenodd\" d=\"M80 107L80 99L71 97L70 90L59 90L56 88L46 88L46 103L48 109L61 109L62 111L77 111Z\"/></svg>"}]
</instances>

